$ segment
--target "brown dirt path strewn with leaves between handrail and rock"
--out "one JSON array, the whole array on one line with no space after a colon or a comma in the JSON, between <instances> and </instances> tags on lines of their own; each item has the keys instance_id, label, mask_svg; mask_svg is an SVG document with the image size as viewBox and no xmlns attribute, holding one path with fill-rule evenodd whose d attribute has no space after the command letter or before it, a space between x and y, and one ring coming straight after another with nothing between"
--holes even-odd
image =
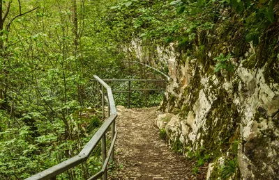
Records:
<instances>
[{"instance_id":1,"label":"brown dirt path strewn with leaves between handrail and rock","mask_svg":"<svg viewBox=\"0 0 279 180\"><path fill-rule=\"evenodd\" d=\"M156 108L117 106L116 168L110 179L205 179L193 174L195 161L169 149L153 124ZM202 169L202 168L201 168ZM201 170L206 172L206 168Z\"/></svg>"}]
</instances>

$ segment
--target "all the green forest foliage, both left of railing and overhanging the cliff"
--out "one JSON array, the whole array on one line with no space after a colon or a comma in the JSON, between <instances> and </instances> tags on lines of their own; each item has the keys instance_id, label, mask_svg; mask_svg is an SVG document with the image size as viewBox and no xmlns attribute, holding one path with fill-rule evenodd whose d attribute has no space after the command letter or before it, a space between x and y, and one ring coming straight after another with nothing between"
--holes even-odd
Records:
<instances>
[{"instance_id":1,"label":"all the green forest foliage, both left of railing and overhanging the cliff","mask_svg":"<svg viewBox=\"0 0 279 180\"><path fill-rule=\"evenodd\" d=\"M244 55L244 42L257 46L249 66L267 61L278 67L277 29L277 0L0 0L0 179L29 177L80 151L100 125L92 75L148 77L142 67L127 68L127 60L138 60L128 48L131 40L142 40L144 63L155 61L163 72L156 46L172 43L179 63L183 55L199 57L216 64L218 73L234 70L230 60ZM232 45L204 58L219 44ZM265 74L271 75L278 71ZM149 106L160 101L157 94L149 97ZM126 104L124 95L116 99ZM61 178L86 178L99 165L92 156Z\"/></svg>"}]
</instances>

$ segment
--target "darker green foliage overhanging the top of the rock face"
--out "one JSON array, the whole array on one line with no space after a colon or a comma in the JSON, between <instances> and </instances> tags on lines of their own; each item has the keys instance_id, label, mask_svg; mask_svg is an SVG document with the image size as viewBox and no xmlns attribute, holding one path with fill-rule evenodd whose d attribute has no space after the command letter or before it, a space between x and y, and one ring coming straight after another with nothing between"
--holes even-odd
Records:
<instances>
[{"instance_id":1,"label":"darker green foliage overhanging the top of the rock face","mask_svg":"<svg viewBox=\"0 0 279 180\"><path fill-rule=\"evenodd\" d=\"M278 65L278 0L123 0L112 10L125 22L119 24L125 31L121 38L140 37L146 47L172 43L179 63L197 58L206 67L217 64L216 72L232 72L232 60L239 63L252 46L255 60L246 62L249 67ZM278 69L264 75L266 81L278 81Z\"/></svg>"}]
</instances>

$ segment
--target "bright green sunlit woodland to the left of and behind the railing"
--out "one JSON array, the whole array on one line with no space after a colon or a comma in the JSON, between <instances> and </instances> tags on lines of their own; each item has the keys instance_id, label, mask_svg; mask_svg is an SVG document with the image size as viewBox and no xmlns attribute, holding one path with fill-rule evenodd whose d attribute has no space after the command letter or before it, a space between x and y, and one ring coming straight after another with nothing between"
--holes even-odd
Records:
<instances>
[{"instance_id":1,"label":"bright green sunlit woodland to the left of and behind the railing","mask_svg":"<svg viewBox=\"0 0 279 180\"><path fill-rule=\"evenodd\" d=\"M115 4L0 1L0 179L27 178L80 152L101 124L93 74L149 77L126 67L131 39L123 38L122 19L114 19ZM144 95L133 93L131 104L160 102L153 93L145 104ZM126 95L116 100L126 105ZM86 179L100 170L100 148L94 154L59 179Z\"/></svg>"}]
</instances>

